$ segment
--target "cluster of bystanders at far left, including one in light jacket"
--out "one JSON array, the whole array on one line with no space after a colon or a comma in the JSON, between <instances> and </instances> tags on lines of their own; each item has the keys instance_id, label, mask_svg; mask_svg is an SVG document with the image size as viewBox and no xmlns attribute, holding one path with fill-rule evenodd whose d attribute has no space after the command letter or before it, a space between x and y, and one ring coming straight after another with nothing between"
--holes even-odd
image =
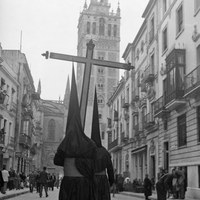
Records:
<instances>
[{"instance_id":1,"label":"cluster of bystanders at far left, including one in light jacket","mask_svg":"<svg viewBox=\"0 0 200 200\"><path fill-rule=\"evenodd\" d=\"M19 190L26 186L26 175L17 173L14 169L10 168L8 171L6 166L0 171L0 190L2 194L6 194L8 190Z\"/></svg>"}]
</instances>

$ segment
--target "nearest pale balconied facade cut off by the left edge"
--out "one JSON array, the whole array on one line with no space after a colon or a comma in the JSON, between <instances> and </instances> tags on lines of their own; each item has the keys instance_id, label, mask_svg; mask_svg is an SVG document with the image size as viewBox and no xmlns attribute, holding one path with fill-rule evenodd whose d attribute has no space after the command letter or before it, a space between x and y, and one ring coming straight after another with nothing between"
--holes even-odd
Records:
<instances>
[{"instance_id":1,"label":"nearest pale balconied facade cut off by the left edge","mask_svg":"<svg viewBox=\"0 0 200 200\"><path fill-rule=\"evenodd\" d=\"M12 66L3 58L0 47L0 169L14 167L17 88Z\"/></svg>"}]
</instances>

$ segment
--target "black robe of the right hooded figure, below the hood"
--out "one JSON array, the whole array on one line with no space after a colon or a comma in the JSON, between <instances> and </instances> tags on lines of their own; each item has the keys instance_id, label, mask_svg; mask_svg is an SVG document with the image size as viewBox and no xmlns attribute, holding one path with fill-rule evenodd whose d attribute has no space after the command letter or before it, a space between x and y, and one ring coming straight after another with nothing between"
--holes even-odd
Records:
<instances>
[{"instance_id":1,"label":"black robe of the right hooded figure, below the hood","mask_svg":"<svg viewBox=\"0 0 200 200\"><path fill-rule=\"evenodd\" d=\"M95 161L98 200L110 200L110 186L114 182L114 172L109 152L104 147L97 148Z\"/></svg>"}]
</instances>

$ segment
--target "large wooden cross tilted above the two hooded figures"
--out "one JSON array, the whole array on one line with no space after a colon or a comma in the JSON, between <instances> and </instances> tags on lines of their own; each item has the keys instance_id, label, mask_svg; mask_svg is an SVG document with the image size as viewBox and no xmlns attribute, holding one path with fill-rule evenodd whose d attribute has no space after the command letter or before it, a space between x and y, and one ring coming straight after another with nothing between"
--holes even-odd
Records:
<instances>
[{"instance_id":1,"label":"large wooden cross tilted above the two hooded figures","mask_svg":"<svg viewBox=\"0 0 200 200\"><path fill-rule=\"evenodd\" d=\"M80 115L81 115L81 122L82 122L83 130L85 127L85 116L86 116L86 109L87 109L88 92L89 92L90 75L91 75L92 65L117 68L117 69L125 69L125 70L134 69L134 67L131 66L130 63L125 64L125 63L119 63L119 62L93 59L94 47L95 47L95 45L94 45L93 41L90 40L89 43L87 43L86 57L72 56L72 55L59 54L59 53L53 53L53 52L50 52L50 55L49 55L48 51L46 51L46 53L42 54L42 56L44 56L46 59L52 58L52 59L72 61L72 62L85 64L83 85L82 85L82 92L81 92L81 100L80 100Z\"/></svg>"}]
</instances>

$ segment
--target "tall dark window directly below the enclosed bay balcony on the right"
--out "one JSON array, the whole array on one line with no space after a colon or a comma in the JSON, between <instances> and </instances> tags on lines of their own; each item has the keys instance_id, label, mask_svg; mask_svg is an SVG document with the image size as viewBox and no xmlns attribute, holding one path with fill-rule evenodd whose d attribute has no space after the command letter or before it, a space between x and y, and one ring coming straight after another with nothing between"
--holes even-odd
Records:
<instances>
[{"instance_id":1,"label":"tall dark window directly below the enclosed bay balcony on the right","mask_svg":"<svg viewBox=\"0 0 200 200\"><path fill-rule=\"evenodd\" d=\"M183 114L177 119L178 129L178 147L185 146L187 144L186 134L186 114Z\"/></svg>"}]
</instances>

